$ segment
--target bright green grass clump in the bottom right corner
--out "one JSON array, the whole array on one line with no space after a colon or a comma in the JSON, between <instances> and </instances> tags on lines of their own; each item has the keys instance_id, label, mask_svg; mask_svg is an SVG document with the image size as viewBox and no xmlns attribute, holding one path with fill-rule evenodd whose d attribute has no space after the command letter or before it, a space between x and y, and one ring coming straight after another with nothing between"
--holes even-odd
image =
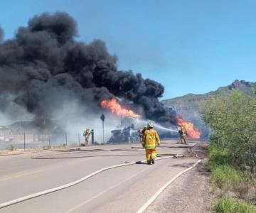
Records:
<instances>
[{"instance_id":1,"label":"bright green grass clump in the bottom right corner","mask_svg":"<svg viewBox=\"0 0 256 213\"><path fill-rule=\"evenodd\" d=\"M213 207L216 213L255 213L256 209L250 204L234 200L230 197L222 197Z\"/></svg>"}]
</instances>

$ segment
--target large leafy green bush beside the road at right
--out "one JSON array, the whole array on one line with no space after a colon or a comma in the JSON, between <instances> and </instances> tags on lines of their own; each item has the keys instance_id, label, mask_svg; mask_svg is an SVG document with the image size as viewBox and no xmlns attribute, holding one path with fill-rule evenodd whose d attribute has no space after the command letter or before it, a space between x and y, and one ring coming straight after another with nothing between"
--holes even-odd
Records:
<instances>
[{"instance_id":1,"label":"large leafy green bush beside the road at right","mask_svg":"<svg viewBox=\"0 0 256 213\"><path fill-rule=\"evenodd\" d=\"M256 167L256 99L234 91L213 99L203 109L210 126L210 141L230 153L231 163L240 169Z\"/></svg>"}]
</instances>

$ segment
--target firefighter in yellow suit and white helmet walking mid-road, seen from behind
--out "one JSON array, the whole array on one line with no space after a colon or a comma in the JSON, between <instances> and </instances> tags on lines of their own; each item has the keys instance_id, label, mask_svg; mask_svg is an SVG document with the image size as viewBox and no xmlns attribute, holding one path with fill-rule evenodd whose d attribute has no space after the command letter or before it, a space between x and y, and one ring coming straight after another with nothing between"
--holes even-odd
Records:
<instances>
[{"instance_id":1,"label":"firefighter in yellow suit and white helmet walking mid-road, seen from behind","mask_svg":"<svg viewBox=\"0 0 256 213\"><path fill-rule=\"evenodd\" d=\"M146 161L148 164L154 164L156 158L156 146L160 145L160 138L156 130L154 129L154 124L149 122L147 129L144 132L142 138L142 145L146 151Z\"/></svg>"}]
</instances>

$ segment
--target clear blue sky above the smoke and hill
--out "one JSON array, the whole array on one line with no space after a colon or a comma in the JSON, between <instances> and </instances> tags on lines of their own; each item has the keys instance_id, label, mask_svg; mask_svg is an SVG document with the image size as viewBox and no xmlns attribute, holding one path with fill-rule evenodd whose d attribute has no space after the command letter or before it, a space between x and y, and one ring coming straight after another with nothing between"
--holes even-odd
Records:
<instances>
[{"instance_id":1,"label":"clear blue sky above the smoke and hill","mask_svg":"<svg viewBox=\"0 0 256 213\"><path fill-rule=\"evenodd\" d=\"M104 40L120 70L161 82L162 99L256 82L256 1L3 0L4 38L46 11L73 16L78 40Z\"/></svg>"}]
</instances>

